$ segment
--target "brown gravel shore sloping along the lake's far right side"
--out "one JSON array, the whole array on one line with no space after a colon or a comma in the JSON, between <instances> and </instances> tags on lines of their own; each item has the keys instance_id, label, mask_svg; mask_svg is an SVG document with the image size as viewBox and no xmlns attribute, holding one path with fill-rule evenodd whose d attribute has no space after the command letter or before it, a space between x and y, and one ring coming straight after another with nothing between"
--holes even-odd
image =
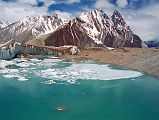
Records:
<instances>
[{"instance_id":1,"label":"brown gravel shore sloping along the lake's far right side","mask_svg":"<svg viewBox=\"0 0 159 120\"><path fill-rule=\"evenodd\" d=\"M118 64L159 77L159 49L155 48L85 48L78 55L66 54L60 58Z\"/></svg>"}]
</instances>

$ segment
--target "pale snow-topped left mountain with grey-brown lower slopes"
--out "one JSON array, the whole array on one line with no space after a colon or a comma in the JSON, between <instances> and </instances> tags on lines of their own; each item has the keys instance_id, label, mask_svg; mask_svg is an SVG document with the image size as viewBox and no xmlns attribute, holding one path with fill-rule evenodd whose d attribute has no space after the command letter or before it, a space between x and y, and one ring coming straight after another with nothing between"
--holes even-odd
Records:
<instances>
[{"instance_id":1,"label":"pale snow-topped left mountain with grey-brown lower slopes","mask_svg":"<svg viewBox=\"0 0 159 120\"><path fill-rule=\"evenodd\" d=\"M25 19L13 23L0 31L0 42L9 40L27 42L36 36L55 31L66 21L57 14L52 16L27 16Z\"/></svg>"}]
</instances>

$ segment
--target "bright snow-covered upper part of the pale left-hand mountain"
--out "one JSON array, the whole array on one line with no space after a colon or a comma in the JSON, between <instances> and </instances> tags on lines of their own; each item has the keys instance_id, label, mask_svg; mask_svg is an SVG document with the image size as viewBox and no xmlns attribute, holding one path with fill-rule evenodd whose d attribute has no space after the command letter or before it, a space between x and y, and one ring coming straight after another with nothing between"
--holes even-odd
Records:
<instances>
[{"instance_id":1,"label":"bright snow-covered upper part of the pale left-hand mountain","mask_svg":"<svg viewBox=\"0 0 159 120\"><path fill-rule=\"evenodd\" d=\"M66 21L64 19L59 18L58 15L55 14L53 16L28 16L22 21L19 21L16 26L24 26L23 29L20 30L21 32L32 29L32 34L39 36L51 33L65 23Z\"/></svg>"}]
</instances>

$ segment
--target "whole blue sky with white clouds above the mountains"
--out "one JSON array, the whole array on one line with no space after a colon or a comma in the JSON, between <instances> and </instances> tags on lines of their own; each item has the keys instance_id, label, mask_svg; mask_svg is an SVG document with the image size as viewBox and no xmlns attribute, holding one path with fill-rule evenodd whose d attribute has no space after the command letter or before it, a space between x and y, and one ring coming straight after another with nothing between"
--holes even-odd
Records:
<instances>
[{"instance_id":1,"label":"whole blue sky with white clouds above the mountains","mask_svg":"<svg viewBox=\"0 0 159 120\"><path fill-rule=\"evenodd\" d=\"M117 9L143 40L159 40L159 0L0 0L0 21L12 23L25 16L54 13L72 19L94 9L108 15Z\"/></svg>"}]
</instances>

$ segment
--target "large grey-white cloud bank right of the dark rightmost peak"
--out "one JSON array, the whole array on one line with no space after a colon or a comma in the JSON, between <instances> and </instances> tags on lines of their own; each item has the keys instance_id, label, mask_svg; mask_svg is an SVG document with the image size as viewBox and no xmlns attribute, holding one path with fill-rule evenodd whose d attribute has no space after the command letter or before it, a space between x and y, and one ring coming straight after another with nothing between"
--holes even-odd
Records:
<instances>
[{"instance_id":1,"label":"large grey-white cloud bank right of the dark rightmost peak","mask_svg":"<svg viewBox=\"0 0 159 120\"><path fill-rule=\"evenodd\" d=\"M159 40L159 4L152 4L141 10L123 12L127 24L143 41Z\"/></svg>"}]
</instances>

